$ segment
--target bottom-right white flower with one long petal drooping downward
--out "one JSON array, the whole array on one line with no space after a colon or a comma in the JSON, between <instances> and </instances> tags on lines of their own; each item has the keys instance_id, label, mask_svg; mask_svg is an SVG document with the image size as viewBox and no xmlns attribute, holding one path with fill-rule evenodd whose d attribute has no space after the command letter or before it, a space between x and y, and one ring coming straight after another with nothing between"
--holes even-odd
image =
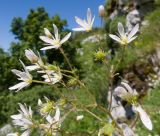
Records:
<instances>
[{"instance_id":1,"label":"bottom-right white flower with one long petal drooping downward","mask_svg":"<svg viewBox=\"0 0 160 136\"><path fill-rule=\"evenodd\" d=\"M121 85L124 87L117 87L117 89L115 90L117 96L119 96L120 98L122 98L124 100L126 100L126 98L127 98L128 101L130 101L130 103L132 104L133 111L139 114L140 119L141 119L142 123L144 124L144 126L147 129L152 130L153 126L152 126L152 122L151 122L149 116L142 109L141 105L135 100L135 97L138 95L136 90L133 90L125 82L122 82Z\"/></svg>"}]
</instances>

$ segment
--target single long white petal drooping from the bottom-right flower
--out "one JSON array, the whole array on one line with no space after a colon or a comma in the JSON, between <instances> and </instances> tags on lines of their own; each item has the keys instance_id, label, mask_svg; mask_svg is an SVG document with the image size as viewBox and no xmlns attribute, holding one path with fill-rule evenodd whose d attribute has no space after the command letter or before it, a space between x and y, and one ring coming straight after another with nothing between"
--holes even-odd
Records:
<instances>
[{"instance_id":1,"label":"single long white petal drooping from the bottom-right flower","mask_svg":"<svg viewBox=\"0 0 160 136\"><path fill-rule=\"evenodd\" d=\"M153 129L152 122L151 122L149 116L147 115L147 113L142 109L142 107L140 105L138 105L138 106L134 105L133 110L138 112L140 119L141 119L142 123L144 124L144 126L148 130L152 130Z\"/></svg>"}]
</instances>

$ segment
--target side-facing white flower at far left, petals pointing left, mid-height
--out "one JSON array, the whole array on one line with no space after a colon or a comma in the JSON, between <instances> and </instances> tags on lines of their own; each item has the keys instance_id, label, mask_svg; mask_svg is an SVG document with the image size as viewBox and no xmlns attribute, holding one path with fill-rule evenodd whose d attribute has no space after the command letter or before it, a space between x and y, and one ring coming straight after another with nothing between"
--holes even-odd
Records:
<instances>
[{"instance_id":1,"label":"side-facing white flower at far left, petals pointing left, mid-height","mask_svg":"<svg viewBox=\"0 0 160 136\"><path fill-rule=\"evenodd\" d=\"M13 69L12 72L19 77L18 80L21 80L23 82L20 82L16 85L10 87L9 90L16 90L17 89L17 91L19 91L22 88L24 88L32 83L32 75L26 69L24 63L21 60L20 60L20 62L23 65L24 71L21 72L19 70Z\"/></svg>"}]
</instances>

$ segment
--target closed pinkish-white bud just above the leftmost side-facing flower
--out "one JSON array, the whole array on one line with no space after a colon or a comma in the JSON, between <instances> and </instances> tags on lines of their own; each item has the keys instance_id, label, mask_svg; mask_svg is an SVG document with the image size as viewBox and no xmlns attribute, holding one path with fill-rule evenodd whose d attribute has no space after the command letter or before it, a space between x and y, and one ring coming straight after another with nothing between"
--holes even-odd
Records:
<instances>
[{"instance_id":1,"label":"closed pinkish-white bud just above the leftmost side-facing flower","mask_svg":"<svg viewBox=\"0 0 160 136\"><path fill-rule=\"evenodd\" d=\"M25 55L32 63L38 62L38 56L31 49L25 50Z\"/></svg>"}]
</instances>

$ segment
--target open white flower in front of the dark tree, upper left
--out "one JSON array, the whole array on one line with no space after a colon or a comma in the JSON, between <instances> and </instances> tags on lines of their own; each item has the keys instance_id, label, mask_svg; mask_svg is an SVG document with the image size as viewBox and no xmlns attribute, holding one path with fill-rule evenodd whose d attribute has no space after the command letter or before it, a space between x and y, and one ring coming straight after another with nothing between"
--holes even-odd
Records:
<instances>
[{"instance_id":1,"label":"open white flower in front of the dark tree, upper left","mask_svg":"<svg viewBox=\"0 0 160 136\"><path fill-rule=\"evenodd\" d=\"M70 37L71 33L68 33L62 40L60 39L60 35L58 34L58 28L55 24L54 27L54 36L49 32L47 28L44 28L44 32L46 36L40 36L40 39L48 45L47 47L42 48L41 50L48 50L48 49L58 49L61 45L66 42Z\"/></svg>"}]
</instances>

